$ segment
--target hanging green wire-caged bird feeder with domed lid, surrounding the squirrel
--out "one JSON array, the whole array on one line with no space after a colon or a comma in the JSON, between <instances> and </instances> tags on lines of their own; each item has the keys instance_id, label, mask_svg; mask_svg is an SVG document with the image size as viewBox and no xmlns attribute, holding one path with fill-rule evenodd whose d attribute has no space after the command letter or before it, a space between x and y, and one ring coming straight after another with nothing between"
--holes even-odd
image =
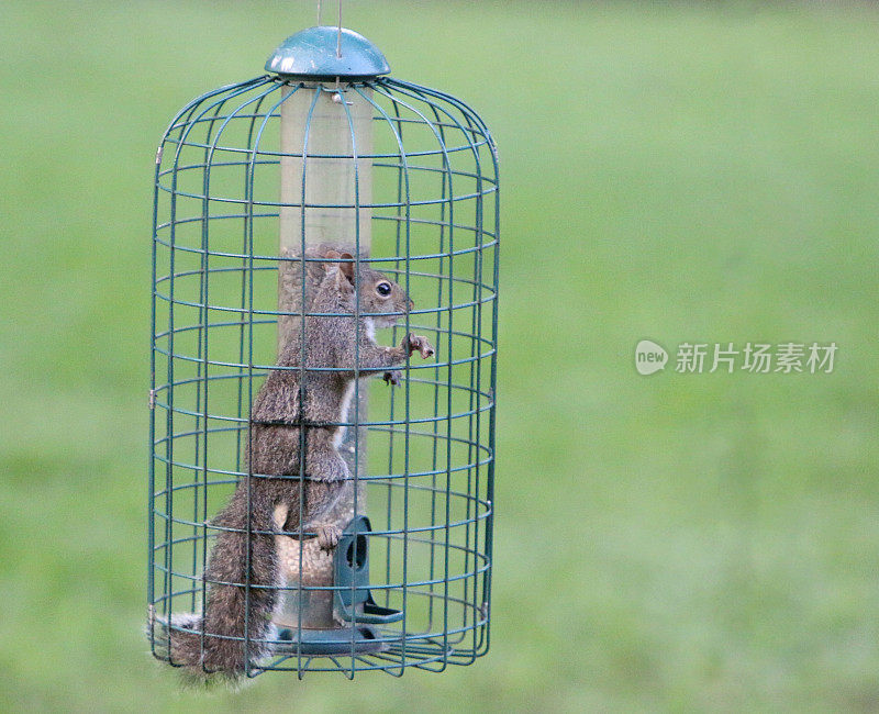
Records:
<instances>
[{"instance_id":1,"label":"hanging green wire-caged bird feeder with domed lid, surrounding the squirrel","mask_svg":"<svg viewBox=\"0 0 879 714\"><path fill-rule=\"evenodd\" d=\"M399 676L470 663L489 647L494 144L464 102L388 77L383 55L341 26L289 37L266 70L187 104L156 155L153 654L179 665L171 637L212 588L253 599L260 587L205 576L223 529L214 517L265 478L248 459L254 398L279 345L314 314L315 270L333 248L414 301L378 338L414 332L435 354L407 360L393 387L355 380L338 447L351 478L332 513L342 537L325 551L314 533L278 532L272 627L252 647L245 626L242 669ZM308 471L285 478L301 484ZM249 554L253 527L241 533Z\"/></svg>"}]
</instances>

